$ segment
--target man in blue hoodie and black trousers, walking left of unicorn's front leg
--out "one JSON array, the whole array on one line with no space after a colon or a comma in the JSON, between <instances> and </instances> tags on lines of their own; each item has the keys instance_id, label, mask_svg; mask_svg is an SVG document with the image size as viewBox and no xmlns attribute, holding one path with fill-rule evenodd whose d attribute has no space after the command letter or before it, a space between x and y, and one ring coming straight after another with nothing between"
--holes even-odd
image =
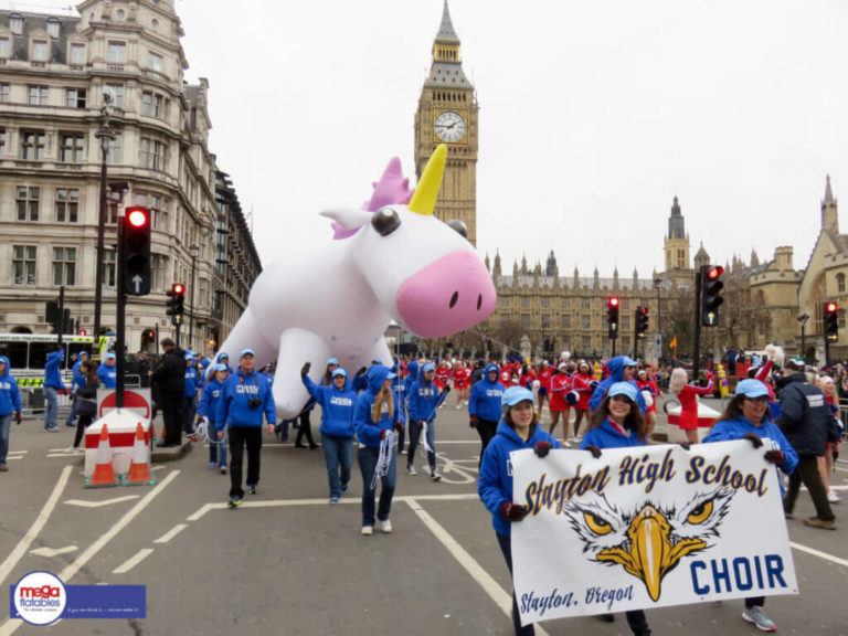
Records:
<instances>
[{"instance_id":1,"label":"man in blue hoodie and black trousers, walking left of unicorn's front leg","mask_svg":"<svg viewBox=\"0 0 848 636\"><path fill-rule=\"evenodd\" d=\"M267 432L274 434L277 409L271 385L253 370L253 349L239 354L239 369L224 382L223 394L218 403L215 427L218 438L224 438L224 427L230 435L230 507L235 508L244 499L242 488L242 459L247 446L247 488L251 495L258 492L259 452L262 451L263 415Z\"/></svg>"}]
</instances>

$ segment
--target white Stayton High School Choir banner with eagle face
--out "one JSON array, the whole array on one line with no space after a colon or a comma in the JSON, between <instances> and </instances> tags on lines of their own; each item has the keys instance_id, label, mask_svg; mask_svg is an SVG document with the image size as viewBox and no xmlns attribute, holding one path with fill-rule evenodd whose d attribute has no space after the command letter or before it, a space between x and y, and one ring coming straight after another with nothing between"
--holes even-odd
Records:
<instances>
[{"instance_id":1,"label":"white Stayton High School Choir banner with eagle face","mask_svg":"<svg viewBox=\"0 0 848 636\"><path fill-rule=\"evenodd\" d=\"M765 442L511 453L522 624L797 594Z\"/></svg>"}]
</instances>

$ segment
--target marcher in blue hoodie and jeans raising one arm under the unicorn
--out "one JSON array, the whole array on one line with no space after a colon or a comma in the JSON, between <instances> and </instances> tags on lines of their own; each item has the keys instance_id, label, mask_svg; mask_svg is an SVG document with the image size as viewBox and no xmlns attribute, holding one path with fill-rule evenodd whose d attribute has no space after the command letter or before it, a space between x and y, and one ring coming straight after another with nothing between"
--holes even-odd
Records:
<instances>
[{"instance_id":1,"label":"marcher in blue hoodie and jeans raising one arm under the unicorn","mask_svg":"<svg viewBox=\"0 0 848 636\"><path fill-rule=\"evenodd\" d=\"M300 369L300 378L309 395L321 407L321 447L327 463L327 479L330 484L330 504L338 504L342 492L348 491L353 447L353 409L357 394L348 389L348 373L341 367L332 371L331 386L318 386L309 379L309 362ZM341 465L341 476L339 476Z\"/></svg>"}]
</instances>

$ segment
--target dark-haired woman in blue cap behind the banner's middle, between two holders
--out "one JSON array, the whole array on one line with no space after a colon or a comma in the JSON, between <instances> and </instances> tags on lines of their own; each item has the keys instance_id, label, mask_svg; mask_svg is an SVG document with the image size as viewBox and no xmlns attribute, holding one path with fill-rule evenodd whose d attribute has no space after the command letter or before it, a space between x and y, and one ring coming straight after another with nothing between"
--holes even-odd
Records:
<instances>
[{"instance_id":1,"label":"dark-haired woman in blue cap behind the banner's middle, between two holders","mask_svg":"<svg viewBox=\"0 0 848 636\"><path fill-rule=\"evenodd\" d=\"M642 392L635 382L611 384L601 404L592 413L589 430L580 442L581 451L589 451L597 458L601 457L602 448L628 448L649 444L645 412L638 405L640 396ZM625 612L625 615L636 636L650 634L644 611L632 610ZM602 614L598 618L607 622L614 619L612 614Z\"/></svg>"}]
</instances>

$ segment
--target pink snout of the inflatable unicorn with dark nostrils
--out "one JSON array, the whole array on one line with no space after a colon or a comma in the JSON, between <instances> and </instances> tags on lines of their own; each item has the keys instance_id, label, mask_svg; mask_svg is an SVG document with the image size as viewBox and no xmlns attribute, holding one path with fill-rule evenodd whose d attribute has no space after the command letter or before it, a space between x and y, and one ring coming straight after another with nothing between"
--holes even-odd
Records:
<instances>
[{"instance_id":1,"label":"pink snout of the inflatable unicorn with dark nostrils","mask_svg":"<svg viewBox=\"0 0 848 636\"><path fill-rule=\"evenodd\" d=\"M424 338L473 327L495 310L495 285L471 252L453 252L410 276L398 295L406 326Z\"/></svg>"}]
</instances>

